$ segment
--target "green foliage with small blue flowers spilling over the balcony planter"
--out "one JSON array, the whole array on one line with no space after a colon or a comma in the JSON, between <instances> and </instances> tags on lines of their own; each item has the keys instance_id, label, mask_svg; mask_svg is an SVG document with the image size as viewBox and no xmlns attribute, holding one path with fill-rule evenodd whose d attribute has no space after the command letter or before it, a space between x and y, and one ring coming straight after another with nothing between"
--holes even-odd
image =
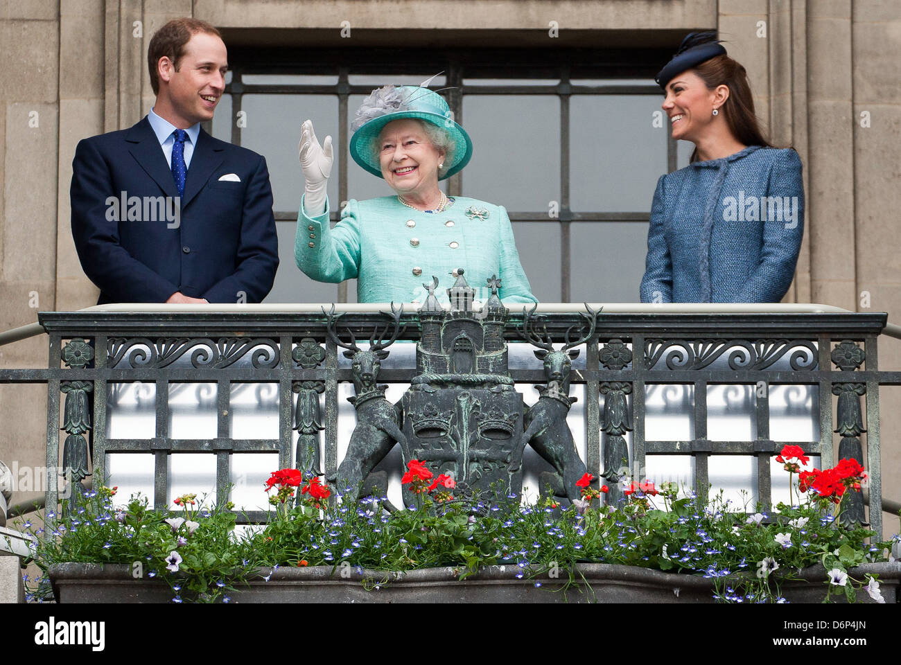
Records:
<instances>
[{"instance_id":1,"label":"green foliage with small blue flowers spilling over the balcony planter","mask_svg":"<svg viewBox=\"0 0 901 665\"><path fill-rule=\"evenodd\" d=\"M177 602L227 600L255 570L283 566L451 567L464 579L480 568L504 565L517 578L557 570L578 584L578 562L702 575L714 580L719 601L779 602L781 581L798 570L822 563L847 572L885 560L890 544L870 547L865 540L875 533L843 527L817 504L780 504L778 514L755 518L729 512L722 495L708 502L706 496L679 497L672 488L660 496L636 492L615 508L589 507L583 514L556 500L522 506L516 496L444 502L424 497L420 507L390 514L384 497L366 497L356 506L336 503L325 511L288 501L270 511L267 524L242 537L235 534L232 506L205 509L201 501L195 509L193 496L186 496L172 512L148 510L140 496L114 509L103 489L90 493L68 519L48 515L44 528L50 533L42 534L34 560L44 570L67 561L140 563L145 577L168 583ZM179 518L184 522L171 522ZM177 570L171 569L172 552L180 558ZM368 588L379 583L364 582ZM863 580L848 578L843 587L850 600L856 598L855 584L860 588ZM830 584L827 596L833 590L837 585ZM29 591L32 597L46 595L46 582Z\"/></svg>"}]
</instances>

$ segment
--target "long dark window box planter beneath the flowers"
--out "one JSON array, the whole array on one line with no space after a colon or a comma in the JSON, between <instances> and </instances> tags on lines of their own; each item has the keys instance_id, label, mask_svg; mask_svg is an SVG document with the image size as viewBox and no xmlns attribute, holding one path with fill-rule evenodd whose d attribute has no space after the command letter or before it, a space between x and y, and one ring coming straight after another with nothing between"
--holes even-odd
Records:
<instances>
[{"instance_id":1,"label":"long dark window box planter beneath the flowers","mask_svg":"<svg viewBox=\"0 0 901 665\"><path fill-rule=\"evenodd\" d=\"M603 563L578 564L579 583L563 593L569 576L546 574L517 579L514 566L493 566L460 581L456 569L419 569L408 572L364 570L362 574L330 567L280 568L266 581L269 570L239 587L232 602L240 603L713 603L714 580L660 570ZM901 562L869 563L851 569L851 577L878 575L887 605L898 602ZM59 603L168 603L171 590L162 582L132 578L129 566L61 563L49 569L53 593ZM778 573L777 573L778 575ZM585 578L590 590L585 586ZM803 570L796 580L781 584L790 603L819 603L825 597L825 570ZM541 587L536 587L535 582ZM376 586L378 585L378 588ZM841 591L842 589L836 589ZM858 601L873 603L865 591ZM842 593L833 593L845 602Z\"/></svg>"}]
</instances>

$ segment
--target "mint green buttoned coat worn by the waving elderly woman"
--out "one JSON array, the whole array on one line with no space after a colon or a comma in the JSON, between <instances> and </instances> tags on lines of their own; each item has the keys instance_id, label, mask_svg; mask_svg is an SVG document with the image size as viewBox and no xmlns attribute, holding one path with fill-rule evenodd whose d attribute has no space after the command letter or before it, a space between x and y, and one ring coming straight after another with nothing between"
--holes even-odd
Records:
<instances>
[{"instance_id":1,"label":"mint green buttoned coat worn by the waving elderly woman","mask_svg":"<svg viewBox=\"0 0 901 665\"><path fill-rule=\"evenodd\" d=\"M471 209L484 214L471 214ZM360 303L422 303L427 296L423 284L432 276L439 281L435 296L446 303L444 289L453 285L450 273L457 268L466 270L478 300L490 296L486 280L496 275L501 278L498 296L506 304L538 302L503 206L454 196L450 207L433 214L408 208L396 196L380 196L350 199L333 229L328 220L328 202L323 214L311 217L301 200L297 267L322 282L357 278Z\"/></svg>"}]
</instances>

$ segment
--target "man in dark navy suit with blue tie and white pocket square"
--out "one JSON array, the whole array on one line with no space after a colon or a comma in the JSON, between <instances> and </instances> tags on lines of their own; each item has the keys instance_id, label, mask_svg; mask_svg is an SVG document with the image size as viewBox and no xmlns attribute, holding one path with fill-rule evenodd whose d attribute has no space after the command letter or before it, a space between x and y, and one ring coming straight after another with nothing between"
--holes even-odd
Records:
<instances>
[{"instance_id":1,"label":"man in dark navy suit with blue tie and white pocket square","mask_svg":"<svg viewBox=\"0 0 901 665\"><path fill-rule=\"evenodd\" d=\"M177 19L148 60L150 114L80 141L72 162L72 234L98 304L259 303L278 268L266 159L200 128L225 88L222 37Z\"/></svg>"}]
</instances>

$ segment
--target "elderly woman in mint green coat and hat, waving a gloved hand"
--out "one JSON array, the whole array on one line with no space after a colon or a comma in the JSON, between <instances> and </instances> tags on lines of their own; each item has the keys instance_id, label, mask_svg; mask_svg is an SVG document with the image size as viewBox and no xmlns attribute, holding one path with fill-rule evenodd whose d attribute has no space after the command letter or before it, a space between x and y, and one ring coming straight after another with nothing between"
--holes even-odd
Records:
<instances>
[{"instance_id":1,"label":"elderly woman in mint green coat and hat, waving a gloved hand","mask_svg":"<svg viewBox=\"0 0 901 665\"><path fill-rule=\"evenodd\" d=\"M447 287L465 269L471 287L490 293L501 280L507 304L536 303L503 206L446 196L438 181L466 166L472 142L443 97L425 87L386 86L364 101L351 125L350 155L396 196L351 199L332 229L325 187L332 170L332 137L316 140L303 125L300 162L305 192L297 215L295 258L310 278L357 278L360 303L423 302L432 276ZM435 289L447 300L443 288Z\"/></svg>"}]
</instances>

